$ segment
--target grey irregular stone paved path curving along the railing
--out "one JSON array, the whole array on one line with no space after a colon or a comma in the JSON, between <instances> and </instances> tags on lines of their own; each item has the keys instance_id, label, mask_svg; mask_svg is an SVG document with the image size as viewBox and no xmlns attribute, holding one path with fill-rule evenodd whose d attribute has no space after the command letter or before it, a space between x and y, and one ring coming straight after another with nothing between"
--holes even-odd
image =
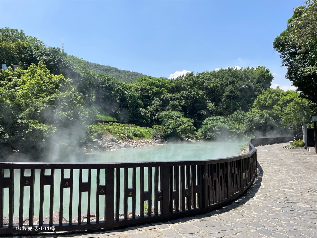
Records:
<instances>
[{"instance_id":1,"label":"grey irregular stone paved path curving along the railing","mask_svg":"<svg viewBox=\"0 0 317 238\"><path fill-rule=\"evenodd\" d=\"M253 186L238 200L217 211L111 232L28 237L317 237L317 193L309 193L307 189L317 189L317 155L306 150L283 149L285 145L257 147L259 172Z\"/></svg>"}]
</instances>

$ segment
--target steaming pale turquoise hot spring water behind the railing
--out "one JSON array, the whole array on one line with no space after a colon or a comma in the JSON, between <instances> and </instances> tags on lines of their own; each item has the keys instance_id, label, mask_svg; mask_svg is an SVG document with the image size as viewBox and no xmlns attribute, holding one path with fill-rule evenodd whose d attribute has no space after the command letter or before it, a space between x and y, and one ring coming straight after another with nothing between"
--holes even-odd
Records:
<instances>
[{"instance_id":1,"label":"steaming pale turquoise hot spring water behind the railing","mask_svg":"<svg viewBox=\"0 0 317 238\"><path fill-rule=\"evenodd\" d=\"M241 142L240 142L241 144ZM177 161L177 160L207 160L217 159L237 155L239 151L239 142L196 142L196 143L179 143L179 144L166 144L159 146L151 146L148 148L129 148L119 149L107 152L96 152L82 156L63 159L63 162L138 162L138 161ZM8 176L8 170L4 171L5 176ZM49 175L49 170L46 171ZM29 175L30 170L26 170L25 175ZM154 169L152 171L154 175ZM69 170L65 170L64 177L69 176ZM91 211L96 213L96 170L92 170L92 188L91 188ZM105 170L100 170L100 185L104 184ZM137 183L136 183L136 200L139 201L139 168L137 169ZM19 214L19 196L20 196L20 170L15 170L14 176L15 189L14 189L14 215ZM123 182L124 175L123 169L120 171L120 208L123 209ZM132 169L129 169L128 186L132 186ZM39 188L40 188L40 171L35 171L35 197L34 197L34 215L39 215ZM54 185L54 211L59 211L60 200L60 178L61 170L55 170L55 185ZM88 179L88 169L83 170L83 181ZM147 187L147 169L145 169L145 187ZM79 170L74 170L74 187L73 187L73 211L72 217L78 215L78 181ZM154 182L154 179L153 179ZM77 185L76 185L77 184ZM152 188L154 191L154 188ZM8 198L9 189L4 189L4 216L8 216ZM100 196L100 201L104 201L104 196ZM69 189L64 189L64 210L63 216L68 220L68 206L69 206ZM81 213L87 212L87 192L82 193L82 210ZM131 201L129 202L129 211ZM120 213L123 210L120 209ZM29 216L29 187L24 188L24 216ZM104 204L100 202L100 216L104 214ZM136 208L136 213L139 212L139 204ZM44 187L44 217L49 215L49 186Z\"/></svg>"}]
</instances>

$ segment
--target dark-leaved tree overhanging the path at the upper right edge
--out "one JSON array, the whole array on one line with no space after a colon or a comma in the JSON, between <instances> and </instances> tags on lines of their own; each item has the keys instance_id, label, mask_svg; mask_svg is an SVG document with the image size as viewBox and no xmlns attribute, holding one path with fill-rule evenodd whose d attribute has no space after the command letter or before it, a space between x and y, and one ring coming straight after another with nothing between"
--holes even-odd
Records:
<instances>
[{"instance_id":1,"label":"dark-leaved tree overhanging the path at the upper right edge","mask_svg":"<svg viewBox=\"0 0 317 238\"><path fill-rule=\"evenodd\" d=\"M287 29L275 37L273 47L301 97L317 103L317 1L305 3L307 6L294 9Z\"/></svg>"}]
</instances>

